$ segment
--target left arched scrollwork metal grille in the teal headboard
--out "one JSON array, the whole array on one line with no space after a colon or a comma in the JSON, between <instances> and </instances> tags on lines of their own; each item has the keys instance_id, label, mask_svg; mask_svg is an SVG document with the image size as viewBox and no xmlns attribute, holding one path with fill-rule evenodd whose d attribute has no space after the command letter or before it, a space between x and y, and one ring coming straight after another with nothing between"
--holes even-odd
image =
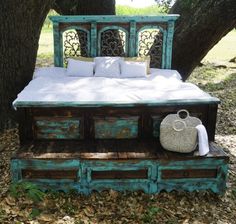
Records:
<instances>
[{"instance_id":1,"label":"left arched scrollwork metal grille in the teal headboard","mask_svg":"<svg viewBox=\"0 0 236 224\"><path fill-rule=\"evenodd\" d=\"M67 64L67 58L88 56L88 35L82 30L70 30L64 32L64 63Z\"/></svg>"}]
</instances>

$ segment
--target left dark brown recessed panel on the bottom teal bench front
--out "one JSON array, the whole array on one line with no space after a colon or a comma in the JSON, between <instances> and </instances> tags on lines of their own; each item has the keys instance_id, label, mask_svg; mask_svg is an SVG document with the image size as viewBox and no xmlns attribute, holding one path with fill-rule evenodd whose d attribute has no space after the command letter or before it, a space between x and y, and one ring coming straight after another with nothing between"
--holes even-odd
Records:
<instances>
[{"instance_id":1,"label":"left dark brown recessed panel on the bottom teal bench front","mask_svg":"<svg viewBox=\"0 0 236 224\"><path fill-rule=\"evenodd\" d=\"M33 170L23 169L21 171L23 179L68 179L77 180L78 170Z\"/></svg>"}]
</instances>

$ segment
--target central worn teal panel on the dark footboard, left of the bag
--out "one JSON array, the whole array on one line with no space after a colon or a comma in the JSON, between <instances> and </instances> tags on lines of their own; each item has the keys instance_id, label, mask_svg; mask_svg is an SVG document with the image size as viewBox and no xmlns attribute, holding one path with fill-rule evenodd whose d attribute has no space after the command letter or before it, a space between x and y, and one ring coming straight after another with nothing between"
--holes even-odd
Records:
<instances>
[{"instance_id":1,"label":"central worn teal panel on the dark footboard, left of the bag","mask_svg":"<svg viewBox=\"0 0 236 224\"><path fill-rule=\"evenodd\" d=\"M94 118L96 139L131 139L138 137L138 117Z\"/></svg>"}]
</instances>

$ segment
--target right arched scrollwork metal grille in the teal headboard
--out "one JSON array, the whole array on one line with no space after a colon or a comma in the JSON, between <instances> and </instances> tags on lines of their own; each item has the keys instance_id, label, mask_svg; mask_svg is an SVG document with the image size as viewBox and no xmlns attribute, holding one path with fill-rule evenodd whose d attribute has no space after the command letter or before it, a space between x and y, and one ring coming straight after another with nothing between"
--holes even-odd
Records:
<instances>
[{"instance_id":1,"label":"right arched scrollwork metal grille in the teal headboard","mask_svg":"<svg viewBox=\"0 0 236 224\"><path fill-rule=\"evenodd\" d=\"M163 33L157 29L142 30L138 34L138 55L151 57L150 66L161 68Z\"/></svg>"}]
</instances>

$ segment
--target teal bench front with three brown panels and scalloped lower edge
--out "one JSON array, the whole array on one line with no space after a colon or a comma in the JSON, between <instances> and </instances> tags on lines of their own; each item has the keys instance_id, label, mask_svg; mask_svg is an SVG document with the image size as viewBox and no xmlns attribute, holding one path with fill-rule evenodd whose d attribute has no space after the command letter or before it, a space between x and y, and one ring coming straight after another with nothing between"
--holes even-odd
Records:
<instances>
[{"instance_id":1,"label":"teal bench front with three brown panels and scalloped lower edge","mask_svg":"<svg viewBox=\"0 0 236 224\"><path fill-rule=\"evenodd\" d=\"M213 147L213 146L211 146ZM220 152L220 156L217 153ZM29 181L43 190L76 189L92 191L143 190L158 193L162 190L212 190L222 194L226 188L228 157L214 146L207 157L179 156L177 159L86 160L82 158L39 159L32 157L11 160L14 182Z\"/></svg>"}]
</instances>

